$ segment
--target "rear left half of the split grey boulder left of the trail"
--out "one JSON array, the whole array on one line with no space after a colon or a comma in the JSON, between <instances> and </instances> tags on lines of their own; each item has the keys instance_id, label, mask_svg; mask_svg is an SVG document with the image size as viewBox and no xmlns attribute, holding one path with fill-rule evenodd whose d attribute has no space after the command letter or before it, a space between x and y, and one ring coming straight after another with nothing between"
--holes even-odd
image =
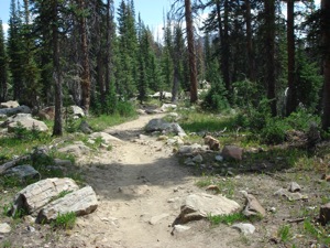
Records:
<instances>
[{"instance_id":1,"label":"rear left half of the split grey boulder left of the trail","mask_svg":"<svg viewBox=\"0 0 330 248\"><path fill-rule=\"evenodd\" d=\"M72 179L46 179L31 184L20 191L13 201L10 211L12 216L16 211L23 209L26 214L37 214L36 212L50 203L61 192L76 191L78 185Z\"/></svg>"}]
</instances>

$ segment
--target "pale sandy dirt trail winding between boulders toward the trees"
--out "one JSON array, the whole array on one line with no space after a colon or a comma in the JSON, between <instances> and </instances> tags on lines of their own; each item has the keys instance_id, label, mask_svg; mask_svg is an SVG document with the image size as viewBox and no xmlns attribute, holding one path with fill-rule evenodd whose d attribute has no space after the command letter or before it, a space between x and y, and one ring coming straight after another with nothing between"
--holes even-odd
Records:
<instances>
[{"instance_id":1,"label":"pale sandy dirt trail winding between boulders toward the trees","mask_svg":"<svg viewBox=\"0 0 330 248\"><path fill-rule=\"evenodd\" d=\"M86 180L99 196L96 213L79 217L70 236L62 240L69 247L230 247L239 237L232 229L206 228L206 222L189 224L186 233L172 235L170 224L179 214L180 201L200 191L196 179L180 166L172 148L156 137L142 136L152 118L136 120L107 129L122 140L111 151L102 151L85 162ZM80 161L81 162L81 161ZM205 229L207 231L205 231ZM239 246L233 246L239 247Z\"/></svg>"}]
</instances>

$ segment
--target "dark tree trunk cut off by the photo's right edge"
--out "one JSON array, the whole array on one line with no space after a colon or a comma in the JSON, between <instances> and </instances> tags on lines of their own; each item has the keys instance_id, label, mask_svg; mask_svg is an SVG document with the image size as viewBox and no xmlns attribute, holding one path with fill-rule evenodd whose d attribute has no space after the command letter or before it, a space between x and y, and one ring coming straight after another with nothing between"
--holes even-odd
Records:
<instances>
[{"instance_id":1,"label":"dark tree trunk cut off by the photo's right edge","mask_svg":"<svg viewBox=\"0 0 330 248\"><path fill-rule=\"evenodd\" d=\"M330 128L330 0L321 1L322 11L322 45L324 51L323 73L323 115L322 129L329 131Z\"/></svg>"}]
</instances>

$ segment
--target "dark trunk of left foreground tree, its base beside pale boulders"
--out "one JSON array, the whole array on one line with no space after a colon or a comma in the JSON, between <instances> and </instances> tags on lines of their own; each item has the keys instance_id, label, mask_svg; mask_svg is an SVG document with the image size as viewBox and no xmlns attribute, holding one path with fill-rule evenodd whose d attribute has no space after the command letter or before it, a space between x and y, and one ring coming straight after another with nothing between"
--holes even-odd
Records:
<instances>
[{"instance_id":1,"label":"dark trunk of left foreground tree, its base beside pale boulders","mask_svg":"<svg viewBox=\"0 0 330 248\"><path fill-rule=\"evenodd\" d=\"M62 136L62 72L61 72L61 63L59 63L59 41L58 41L58 28L57 28L57 0L53 1L53 24L52 24L52 33L53 33L53 79L55 82L55 118L54 118L54 128L53 136Z\"/></svg>"}]
</instances>

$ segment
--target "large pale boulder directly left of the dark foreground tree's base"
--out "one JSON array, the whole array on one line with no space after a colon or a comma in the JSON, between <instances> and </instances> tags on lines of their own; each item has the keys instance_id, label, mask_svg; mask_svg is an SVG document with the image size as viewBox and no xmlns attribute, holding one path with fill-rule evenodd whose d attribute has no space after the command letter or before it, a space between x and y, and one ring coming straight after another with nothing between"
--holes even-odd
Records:
<instances>
[{"instance_id":1,"label":"large pale boulder directly left of the dark foreground tree's base","mask_svg":"<svg viewBox=\"0 0 330 248\"><path fill-rule=\"evenodd\" d=\"M48 127L43 121L33 119L31 114L16 114L8 118L3 125L8 127L8 131L10 132L13 131L19 123L28 130L36 129L42 132L48 131Z\"/></svg>"}]
</instances>

